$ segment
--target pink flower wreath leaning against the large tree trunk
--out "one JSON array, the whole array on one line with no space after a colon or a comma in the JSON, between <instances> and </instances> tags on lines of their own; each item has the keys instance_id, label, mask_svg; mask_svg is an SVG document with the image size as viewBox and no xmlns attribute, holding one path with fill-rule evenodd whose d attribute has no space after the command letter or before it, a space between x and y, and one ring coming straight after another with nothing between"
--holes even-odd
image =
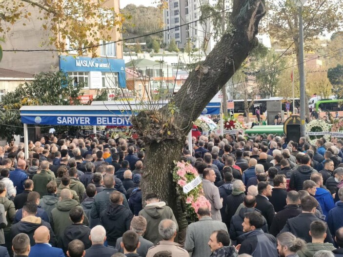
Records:
<instances>
[{"instance_id":1,"label":"pink flower wreath leaning against the large tree trunk","mask_svg":"<svg viewBox=\"0 0 343 257\"><path fill-rule=\"evenodd\" d=\"M198 171L188 162L175 162L173 171L173 181L176 182L176 190L185 206L185 215L188 223L198 221L198 210L201 206L208 206L211 210L210 202L205 198L202 183L194 187L188 193L184 193L183 187L199 177Z\"/></svg>"}]
</instances>

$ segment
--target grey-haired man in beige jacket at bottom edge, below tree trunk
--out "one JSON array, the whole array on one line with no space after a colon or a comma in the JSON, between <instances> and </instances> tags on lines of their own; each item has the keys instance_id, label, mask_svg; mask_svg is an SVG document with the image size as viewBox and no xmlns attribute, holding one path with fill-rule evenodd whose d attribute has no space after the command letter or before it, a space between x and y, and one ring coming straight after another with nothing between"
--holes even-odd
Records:
<instances>
[{"instance_id":1,"label":"grey-haired man in beige jacket at bottom edge, below tree trunk","mask_svg":"<svg viewBox=\"0 0 343 257\"><path fill-rule=\"evenodd\" d=\"M177 226L171 219L163 219L159 224L159 234L162 240L158 245L151 247L146 257L154 257L154 255L160 251L170 251L172 257L189 257L186 250L182 248L182 245L175 243L174 238L177 234Z\"/></svg>"}]
</instances>

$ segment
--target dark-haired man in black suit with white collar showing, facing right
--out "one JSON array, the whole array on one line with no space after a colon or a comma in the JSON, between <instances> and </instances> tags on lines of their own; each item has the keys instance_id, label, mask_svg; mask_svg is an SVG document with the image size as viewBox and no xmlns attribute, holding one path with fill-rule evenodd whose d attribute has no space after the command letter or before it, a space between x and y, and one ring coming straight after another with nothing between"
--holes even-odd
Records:
<instances>
[{"instance_id":1,"label":"dark-haired man in black suit with white collar showing, facing right","mask_svg":"<svg viewBox=\"0 0 343 257\"><path fill-rule=\"evenodd\" d=\"M272 196L272 186L267 181L261 181L257 184L257 190L259 194L256 196L255 208L261 211L270 227L275 216L274 206L269 201L269 197Z\"/></svg>"}]
</instances>

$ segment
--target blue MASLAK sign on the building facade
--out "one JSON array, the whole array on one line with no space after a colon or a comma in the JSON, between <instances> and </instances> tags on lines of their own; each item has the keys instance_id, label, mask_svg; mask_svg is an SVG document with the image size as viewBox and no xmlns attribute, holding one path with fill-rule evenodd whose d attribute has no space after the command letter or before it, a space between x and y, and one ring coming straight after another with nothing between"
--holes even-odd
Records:
<instances>
[{"instance_id":1,"label":"blue MASLAK sign on the building facade","mask_svg":"<svg viewBox=\"0 0 343 257\"><path fill-rule=\"evenodd\" d=\"M123 59L90 58L60 55L60 70L64 72L111 72L118 73L119 85L126 87L125 62Z\"/></svg>"}]
</instances>

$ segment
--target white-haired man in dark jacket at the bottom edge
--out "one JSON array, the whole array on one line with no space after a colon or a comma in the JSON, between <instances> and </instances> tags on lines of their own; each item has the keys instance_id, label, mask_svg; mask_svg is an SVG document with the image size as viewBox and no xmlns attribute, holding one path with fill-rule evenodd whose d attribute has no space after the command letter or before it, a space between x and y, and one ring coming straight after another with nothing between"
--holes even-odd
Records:
<instances>
[{"instance_id":1,"label":"white-haired man in dark jacket at the bottom edge","mask_svg":"<svg viewBox=\"0 0 343 257\"><path fill-rule=\"evenodd\" d=\"M92 246L86 250L84 257L111 257L113 254L118 253L117 249L103 245L106 241L106 230L101 225L92 228L89 239L92 242Z\"/></svg>"}]
</instances>

